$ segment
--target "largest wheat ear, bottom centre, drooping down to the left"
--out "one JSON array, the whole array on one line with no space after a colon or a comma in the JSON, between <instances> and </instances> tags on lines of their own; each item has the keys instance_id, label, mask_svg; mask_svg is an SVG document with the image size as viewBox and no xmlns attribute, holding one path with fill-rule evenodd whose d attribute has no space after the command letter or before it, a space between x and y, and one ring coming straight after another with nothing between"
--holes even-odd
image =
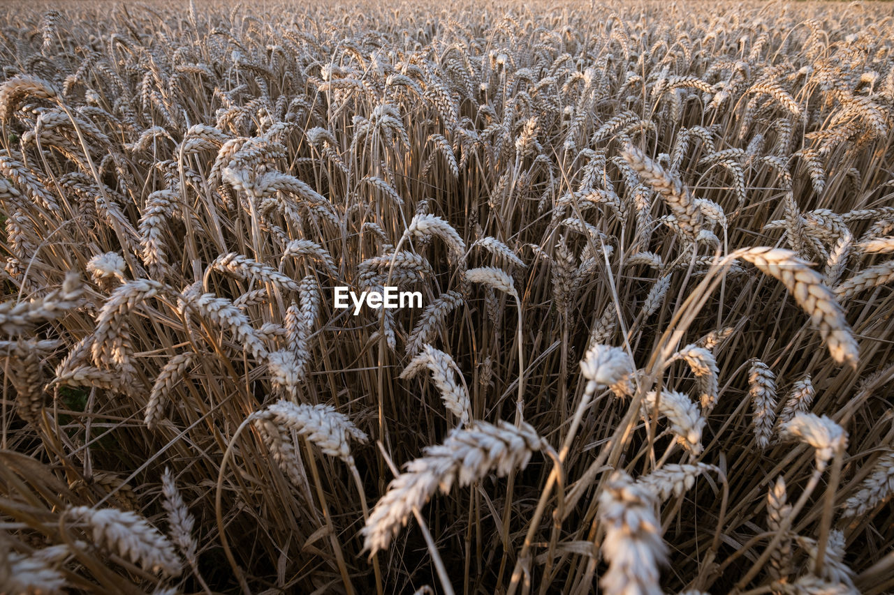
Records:
<instances>
[{"instance_id":1,"label":"largest wheat ear, bottom centre, drooping down to the left","mask_svg":"<svg viewBox=\"0 0 894 595\"><path fill-rule=\"evenodd\" d=\"M524 469L531 454L543 444L534 428L524 422L519 427L502 421L498 425L477 422L454 429L443 444L426 447L425 456L410 461L407 471L388 484L388 491L360 531L364 549L370 555L387 549L413 509L423 507L436 490L447 493L454 482L461 487L484 479L488 473L502 477Z\"/></svg>"}]
</instances>

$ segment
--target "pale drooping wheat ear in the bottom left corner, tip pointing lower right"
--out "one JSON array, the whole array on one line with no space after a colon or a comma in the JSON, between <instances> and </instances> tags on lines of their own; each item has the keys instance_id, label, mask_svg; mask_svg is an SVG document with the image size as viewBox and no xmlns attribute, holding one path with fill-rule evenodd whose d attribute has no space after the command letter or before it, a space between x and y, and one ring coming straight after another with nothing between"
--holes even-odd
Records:
<instances>
[{"instance_id":1,"label":"pale drooping wheat ear in the bottom left corner, tip pointing lower right","mask_svg":"<svg viewBox=\"0 0 894 595\"><path fill-rule=\"evenodd\" d=\"M114 550L144 570L171 576L181 573L181 561L171 542L136 513L116 508L72 507L65 515L88 524L97 545Z\"/></svg>"}]
</instances>

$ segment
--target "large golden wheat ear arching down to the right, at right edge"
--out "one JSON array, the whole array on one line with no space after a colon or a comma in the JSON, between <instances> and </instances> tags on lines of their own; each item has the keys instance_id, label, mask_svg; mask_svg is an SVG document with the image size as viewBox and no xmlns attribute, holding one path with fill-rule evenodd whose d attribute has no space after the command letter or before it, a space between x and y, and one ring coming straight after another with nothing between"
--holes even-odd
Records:
<instances>
[{"instance_id":1,"label":"large golden wheat ear arching down to the right, at right edge","mask_svg":"<svg viewBox=\"0 0 894 595\"><path fill-rule=\"evenodd\" d=\"M835 294L822 283L822 275L811 269L794 252L782 248L752 247L735 253L754 264L761 272L782 281L798 306L819 327L829 353L839 364L856 368L859 357L854 335L845 320Z\"/></svg>"}]
</instances>

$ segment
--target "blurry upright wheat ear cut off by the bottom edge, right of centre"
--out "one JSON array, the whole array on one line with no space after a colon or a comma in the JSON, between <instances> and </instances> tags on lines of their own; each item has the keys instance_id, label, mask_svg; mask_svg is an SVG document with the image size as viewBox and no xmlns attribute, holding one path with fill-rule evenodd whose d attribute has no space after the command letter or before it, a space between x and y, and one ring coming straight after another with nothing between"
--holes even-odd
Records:
<instances>
[{"instance_id":1,"label":"blurry upright wheat ear cut off by the bottom edge, right of centre","mask_svg":"<svg viewBox=\"0 0 894 595\"><path fill-rule=\"evenodd\" d=\"M605 527L602 551L609 568L600 580L607 595L661 595L659 569L667 560L654 492L616 471L599 495Z\"/></svg>"}]
</instances>

